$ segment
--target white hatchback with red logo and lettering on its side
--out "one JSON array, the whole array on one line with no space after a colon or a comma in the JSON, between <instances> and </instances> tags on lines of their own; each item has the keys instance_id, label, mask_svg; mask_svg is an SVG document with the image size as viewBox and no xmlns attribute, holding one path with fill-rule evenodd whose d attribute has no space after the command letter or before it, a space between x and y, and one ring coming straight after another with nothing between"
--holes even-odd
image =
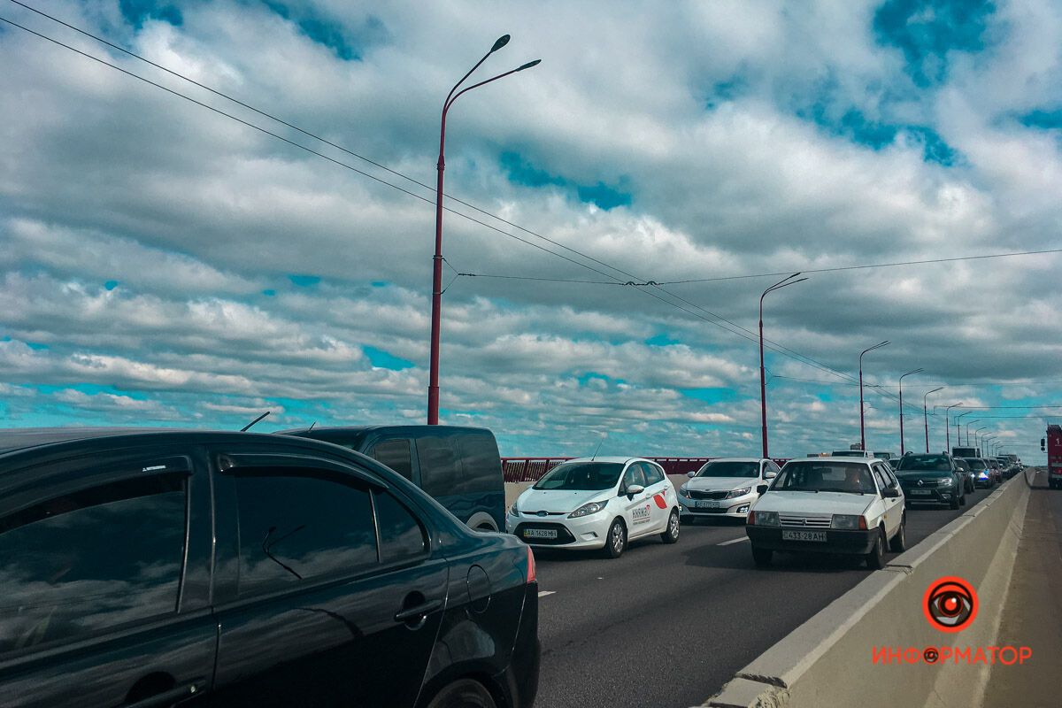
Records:
<instances>
[{"instance_id":1,"label":"white hatchback with red logo and lettering on its side","mask_svg":"<svg viewBox=\"0 0 1062 708\"><path fill-rule=\"evenodd\" d=\"M615 558L636 538L679 540L679 499L649 460L569 460L516 499L506 528L530 546L603 549Z\"/></svg>"}]
</instances>

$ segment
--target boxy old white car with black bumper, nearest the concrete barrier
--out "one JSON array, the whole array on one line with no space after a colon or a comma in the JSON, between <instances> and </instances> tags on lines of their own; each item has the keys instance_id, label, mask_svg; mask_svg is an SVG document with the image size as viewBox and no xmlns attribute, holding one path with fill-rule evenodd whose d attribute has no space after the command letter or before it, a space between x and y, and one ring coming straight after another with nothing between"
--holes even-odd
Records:
<instances>
[{"instance_id":1,"label":"boxy old white car with black bumper, nearest the concrete barrier","mask_svg":"<svg viewBox=\"0 0 1062 708\"><path fill-rule=\"evenodd\" d=\"M766 485L761 485L764 490ZM885 566L885 547L903 551L904 493L880 460L791 460L752 505L746 533L757 566L775 551L861 555Z\"/></svg>"}]
</instances>

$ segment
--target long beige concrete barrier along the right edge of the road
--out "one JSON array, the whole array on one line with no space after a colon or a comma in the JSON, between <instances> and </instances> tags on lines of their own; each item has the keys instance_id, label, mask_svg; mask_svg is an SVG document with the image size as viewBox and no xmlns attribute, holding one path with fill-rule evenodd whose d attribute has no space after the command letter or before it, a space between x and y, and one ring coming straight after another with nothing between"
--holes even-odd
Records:
<instances>
[{"instance_id":1,"label":"long beige concrete barrier along the right edge of the road","mask_svg":"<svg viewBox=\"0 0 1062 708\"><path fill-rule=\"evenodd\" d=\"M705 702L717 708L979 705L989 664L953 660L874 663L875 650L992 646L1003 617L1029 488L1014 477L871 573L739 671ZM979 599L973 624L943 633L926 620L923 597L939 577L970 582ZM784 601L784 598L780 598Z\"/></svg>"}]
</instances>

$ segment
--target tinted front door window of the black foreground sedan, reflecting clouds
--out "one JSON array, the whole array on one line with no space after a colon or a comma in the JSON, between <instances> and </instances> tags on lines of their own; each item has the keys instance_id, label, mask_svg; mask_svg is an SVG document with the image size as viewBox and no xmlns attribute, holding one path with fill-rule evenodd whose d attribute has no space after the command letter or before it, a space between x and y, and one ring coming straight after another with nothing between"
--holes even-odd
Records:
<instances>
[{"instance_id":1,"label":"tinted front door window of the black foreground sedan, reflecting clouds","mask_svg":"<svg viewBox=\"0 0 1062 708\"><path fill-rule=\"evenodd\" d=\"M0 655L175 612L186 481L140 476L0 519Z\"/></svg>"}]
</instances>

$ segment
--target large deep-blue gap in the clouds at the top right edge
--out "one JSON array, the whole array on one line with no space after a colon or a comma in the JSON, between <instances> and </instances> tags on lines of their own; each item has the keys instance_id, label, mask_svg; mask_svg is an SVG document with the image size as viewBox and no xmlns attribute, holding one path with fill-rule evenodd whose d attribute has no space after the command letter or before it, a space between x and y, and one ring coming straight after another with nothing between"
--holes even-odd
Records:
<instances>
[{"instance_id":1,"label":"large deep-blue gap in the clouds at the top right edge","mask_svg":"<svg viewBox=\"0 0 1062 708\"><path fill-rule=\"evenodd\" d=\"M947 53L979 52L995 5L984 0L888 0L874 13L878 44L896 47L917 86L947 79Z\"/></svg>"}]
</instances>

